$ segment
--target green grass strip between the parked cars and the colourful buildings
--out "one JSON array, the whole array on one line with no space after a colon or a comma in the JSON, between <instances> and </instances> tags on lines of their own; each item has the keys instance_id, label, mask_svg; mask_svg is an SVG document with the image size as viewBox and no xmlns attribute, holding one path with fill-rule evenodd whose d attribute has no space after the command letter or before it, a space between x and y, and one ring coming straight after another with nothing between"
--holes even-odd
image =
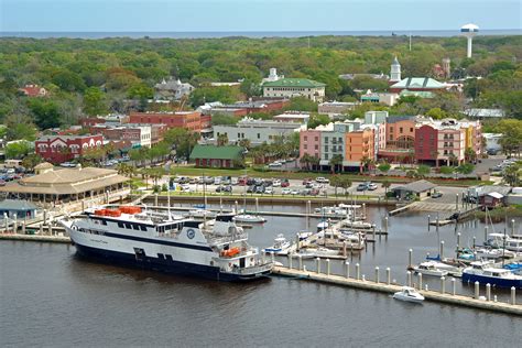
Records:
<instances>
[{"instance_id":1,"label":"green grass strip between the parked cars and the colourful buildings","mask_svg":"<svg viewBox=\"0 0 522 348\"><path fill-rule=\"evenodd\" d=\"M172 175L187 175L187 176L241 176L244 175L244 170L220 170L220 168L196 168L194 166L180 166L171 168ZM314 178L317 176L331 177L330 173L316 173L316 172L280 172L280 171L260 171L255 168L247 168L247 175L252 177L261 178L291 178L291 180L304 180ZM400 176L372 176L361 175L352 173L342 173L341 175L348 176L354 182L372 181L376 183L389 181L391 183L410 183L416 181L409 177ZM444 180L444 178L429 178L431 182L443 186L474 186L474 185L488 185L491 182L482 182L479 180Z\"/></svg>"}]
</instances>

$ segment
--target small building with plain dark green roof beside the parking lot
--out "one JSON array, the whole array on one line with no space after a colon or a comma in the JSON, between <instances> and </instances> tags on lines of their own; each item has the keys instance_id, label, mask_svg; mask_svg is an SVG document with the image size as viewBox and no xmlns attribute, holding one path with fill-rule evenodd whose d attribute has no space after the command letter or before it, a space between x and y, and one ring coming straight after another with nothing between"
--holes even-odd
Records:
<instances>
[{"instance_id":1,"label":"small building with plain dark green roof beside the parking lot","mask_svg":"<svg viewBox=\"0 0 522 348\"><path fill-rule=\"evenodd\" d=\"M191 162L197 167L241 167L244 148L236 145L200 145L197 144L191 153Z\"/></svg>"}]
</instances>

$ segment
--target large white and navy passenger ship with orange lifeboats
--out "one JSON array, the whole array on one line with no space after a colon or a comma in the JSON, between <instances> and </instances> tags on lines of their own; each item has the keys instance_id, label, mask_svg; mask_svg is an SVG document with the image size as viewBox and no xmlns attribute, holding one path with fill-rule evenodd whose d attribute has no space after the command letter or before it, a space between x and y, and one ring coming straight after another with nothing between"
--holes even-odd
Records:
<instances>
[{"instance_id":1,"label":"large white and navy passenger ship with orange lifeboats","mask_svg":"<svg viewBox=\"0 0 522 348\"><path fill-rule=\"evenodd\" d=\"M86 217L64 219L79 254L109 263L218 281L252 280L271 273L248 244L248 235L233 214L217 215L214 224L141 207L100 207Z\"/></svg>"}]
</instances>

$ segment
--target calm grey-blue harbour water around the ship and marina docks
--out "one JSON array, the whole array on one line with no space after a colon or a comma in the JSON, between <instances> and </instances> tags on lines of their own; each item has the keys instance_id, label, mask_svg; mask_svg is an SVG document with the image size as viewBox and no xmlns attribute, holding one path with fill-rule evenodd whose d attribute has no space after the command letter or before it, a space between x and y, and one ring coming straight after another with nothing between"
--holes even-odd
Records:
<instances>
[{"instance_id":1,"label":"calm grey-blue harbour water around the ship and marina docks","mask_svg":"<svg viewBox=\"0 0 522 348\"><path fill-rule=\"evenodd\" d=\"M368 215L380 224L384 213L369 209ZM416 262L426 251L436 253L437 236L425 222L418 214L391 218L388 240L352 262L367 274L374 265L391 267L393 278L403 281L409 248ZM305 228L304 219L269 218L249 233L252 243L265 247L280 232L291 237ZM480 224L460 226L463 244L474 235L481 240L482 230ZM454 227L441 229L447 244L455 243L454 233ZM166 276L91 263L69 246L2 241L0 263L2 346L514 347L522 340L522 319L509 315L429 302L411 305L291 279L228 284ZM457 283L459 292L470 291Z\"/></svg>"}]
</instances>

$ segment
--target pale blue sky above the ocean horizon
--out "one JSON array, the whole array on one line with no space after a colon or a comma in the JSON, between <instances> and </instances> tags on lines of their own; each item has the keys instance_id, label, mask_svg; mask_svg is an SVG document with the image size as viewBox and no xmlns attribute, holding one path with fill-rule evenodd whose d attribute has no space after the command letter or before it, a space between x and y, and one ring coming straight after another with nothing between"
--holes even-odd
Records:
<instances>
[{"instance_id":1,"label":"pale blue sky above the ocean horizon","mask_svg":"<svg viewBox=\"0 0 522 348\"><path fill-rule=\"evenodd\" d=\"M521 0L0 0L3 32L521 29Z\"/></svg>"}]
</instances>

